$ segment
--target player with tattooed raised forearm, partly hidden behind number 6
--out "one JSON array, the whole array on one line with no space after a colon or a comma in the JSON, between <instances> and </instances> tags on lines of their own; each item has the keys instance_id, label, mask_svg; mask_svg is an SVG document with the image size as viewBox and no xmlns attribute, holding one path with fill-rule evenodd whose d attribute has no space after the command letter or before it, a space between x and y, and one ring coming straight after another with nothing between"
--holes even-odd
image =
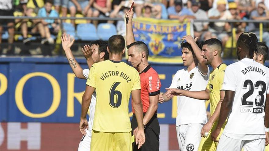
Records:
<instances>
[{"instance_id":1,"label":"player with tattooed raised forearm, partly hidden behind number 6","mask_svg":"<svg viewBox=\"0 0 269 151\"><path fill-rule=\"evenodd\" d=\"M62 41L62 47L64 49L66 58L68 59L69 65L77 78L87 79L90 73L89 69L93 65L93 63L105 61L109 57L109 53L106 50L107 42L101 41L101 40L92 41L90 45L85 45L82 48L83 55L85 56L88 67L89 67L89 69L83 70L80 67L79 63L76 61L70 49L71 46L74 44L75 39L71 41L70 35L68 35L67 37L66 34L63 34L61 37L61 41ZM96 94L94 93L91 98L91 104L90 104L89 127L86 130L80 129L81 133L83 134L83 137L81 141L79 142L78 151L90 150L95 104L96 104Z\"/></svg>"}]
</instances>

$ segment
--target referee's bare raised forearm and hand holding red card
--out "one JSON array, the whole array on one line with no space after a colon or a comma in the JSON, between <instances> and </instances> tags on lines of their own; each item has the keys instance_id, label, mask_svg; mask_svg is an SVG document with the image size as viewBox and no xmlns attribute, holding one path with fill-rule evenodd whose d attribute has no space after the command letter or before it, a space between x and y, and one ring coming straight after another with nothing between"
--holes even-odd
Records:
<instances>
[{"instance_id":1,"label":"referee's bare raised forearm and hand holding red card","mask_svg":"<svg viewBox=\"0 0 269 151\"><path fill-rule=\"evenodd\" d=\"M135 42L135 36L133 33L133 24L132 19L134 16L133 8L131 11L127 11L125 13L126 18L126 45L130 45L131 43Z\"/></svg>"}]
</instances>

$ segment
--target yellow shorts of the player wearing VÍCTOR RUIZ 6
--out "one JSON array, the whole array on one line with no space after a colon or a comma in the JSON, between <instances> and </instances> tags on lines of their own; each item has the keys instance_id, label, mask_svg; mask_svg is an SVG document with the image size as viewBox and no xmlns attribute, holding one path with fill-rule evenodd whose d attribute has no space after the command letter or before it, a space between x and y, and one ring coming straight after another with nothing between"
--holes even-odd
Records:
<instances>
[{"instance_id":1,"label":"yellow shorts of the player wearing V\u00cdCTOR RUIZ 6","mask_svg":"<svg viewBox=\"0 0 269 151\"><path fill-rule=\"evenodd\" d=\"M132 151L131 132L107 133L93 130L90 150Z\"/></svg>"}]
</instances>

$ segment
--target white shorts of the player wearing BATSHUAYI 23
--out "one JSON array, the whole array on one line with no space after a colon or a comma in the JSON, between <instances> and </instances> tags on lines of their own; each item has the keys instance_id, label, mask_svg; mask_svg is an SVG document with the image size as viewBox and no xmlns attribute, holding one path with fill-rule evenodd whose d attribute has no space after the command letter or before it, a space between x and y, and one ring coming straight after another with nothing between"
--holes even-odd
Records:
<instances>
[{"instance_id":1,"label":"white shorts of the player wearing BATSHUAYI 23","mask_svg":"<svg viewBox=\"0 0 269 151\"><path fill-rule=\"evenodd\" d=\"M265 149L265 138L253 139L253 140L238 140L229 138L226 135L221 135L219 138L219 144L217 151L230 151L230 150L241 150L244 151L264 151Z\"/></svg>"}]
</instances>

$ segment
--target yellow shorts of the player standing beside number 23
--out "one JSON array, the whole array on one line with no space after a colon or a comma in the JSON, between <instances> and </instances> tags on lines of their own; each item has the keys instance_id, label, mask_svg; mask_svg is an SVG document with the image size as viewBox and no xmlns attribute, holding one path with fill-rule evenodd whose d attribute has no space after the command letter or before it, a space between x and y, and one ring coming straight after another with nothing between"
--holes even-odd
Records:
<instances>
[{"instance_id":1,"label":"yellow shorts of the player standing beside number 23","mask_svg":"<svg viewBox=\"0 0 269 151\"><path fill-rule=\"evenodd\" d=\"M211 131L215 130L217 124L218 124L218 122L215 122L213 124L211 130L208 132L208 137L206 137L206 138L202 137L198 151L216 151L218 142L213 142L211 140ZM223 133L225 125L226 125L226 122L225 122L225 124L223 124L223 126L221 128L217 140L219 140L220 135Z\"/></svg>"}]
</instances>

